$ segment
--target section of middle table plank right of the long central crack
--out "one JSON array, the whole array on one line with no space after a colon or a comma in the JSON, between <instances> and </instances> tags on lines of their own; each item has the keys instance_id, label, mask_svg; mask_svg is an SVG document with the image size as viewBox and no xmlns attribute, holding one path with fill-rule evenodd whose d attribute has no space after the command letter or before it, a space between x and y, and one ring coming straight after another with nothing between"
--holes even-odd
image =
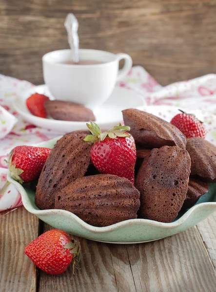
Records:
<instances>
[{"instance_id":1,"label":"section of middle table plank right of the long central crack","mask_svg":"<svg viewBox=\"0 0 216 292\"><path fill-rule=\"evenodd\" d=\"M137 292L215 291L216 274L196 227L147 244L128 245Z\"/></svg>"}]
</instances>

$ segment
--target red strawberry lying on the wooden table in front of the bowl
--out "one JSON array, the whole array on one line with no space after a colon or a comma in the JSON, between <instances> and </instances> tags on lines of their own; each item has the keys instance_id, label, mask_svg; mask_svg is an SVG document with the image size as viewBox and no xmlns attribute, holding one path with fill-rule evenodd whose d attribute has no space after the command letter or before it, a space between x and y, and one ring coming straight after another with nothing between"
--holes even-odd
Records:
<instances>
[{"instance_id":1,"label":"red strawberry lying on the wooden table in front of the bowl","mask_svg":"<svg viewBox=\"0 0 216 292\"><path fill-rule=\"evenodd\" d=\"M66 232L53 229L41 234L25 247L25 254L42 271L58 275L66 271L73 260L73 270L79 259L79 242Z\"/></svg>"}]
</instances>

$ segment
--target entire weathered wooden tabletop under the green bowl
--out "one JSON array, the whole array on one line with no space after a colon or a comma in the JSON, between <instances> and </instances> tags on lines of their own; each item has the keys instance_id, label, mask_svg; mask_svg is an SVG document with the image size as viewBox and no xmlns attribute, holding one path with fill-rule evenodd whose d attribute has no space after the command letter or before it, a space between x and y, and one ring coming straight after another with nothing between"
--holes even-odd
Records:
<instances>
[{"instance_id":1,"label":"entire weathered wooden tabletop under the green bowl","mask_svg":"<svg viewBox=\"0 0 216 292\"><path fill-rule=\"evenodd\" d=\"M215 292L216 214L154 242L79 239L81 257L61 275L35 268L24 247L51 226L24 207L0 214L0 292ZM6 214L6 215L4 215Z\"/></svg>"}]
</instances>

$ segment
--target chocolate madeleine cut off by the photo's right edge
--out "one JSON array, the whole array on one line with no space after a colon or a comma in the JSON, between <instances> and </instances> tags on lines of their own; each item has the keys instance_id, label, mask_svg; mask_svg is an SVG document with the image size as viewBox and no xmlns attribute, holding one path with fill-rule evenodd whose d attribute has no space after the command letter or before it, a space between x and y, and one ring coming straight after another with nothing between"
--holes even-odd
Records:
<instances>
[{"instance_id":1,"label":"chocolate madeleine cut off by the photo's right edge","mask_svg":"<svg viewBox=\"0 0 216 292\"><path fill-rule=\"evenodd\" d=\"M216 183L216 146L200 137L187 139L191 175L203 182Z\"/></svg>"}]
</instances>

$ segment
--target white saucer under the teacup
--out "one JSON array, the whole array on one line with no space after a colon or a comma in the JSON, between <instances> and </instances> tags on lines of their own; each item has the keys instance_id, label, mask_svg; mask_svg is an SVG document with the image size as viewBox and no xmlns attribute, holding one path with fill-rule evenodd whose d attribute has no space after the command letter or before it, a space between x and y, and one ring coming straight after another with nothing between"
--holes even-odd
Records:
<instances>
[{"instance_id":1,"label":"white saucer under the teacup","mask_svg":"<svg viewBox=\"0 0 216 292\"><path fill-rule=\"evenodd\" d=\"M47 95L50 99L54 97L46 85L35 86L24 91L14 102L14 109L28 122L38 127L53 129L57 132L69 132L86 128L86 122L68 122L53 119L44 119L34 116L26 107L26 99L33 93L38 92ZM112 128L121 122L121 110L134 108L142 110L145 102L136 91L116 86L109 99L100 108L94 111L96 123L102 129Z\"/></svg>"}]
</instances>

